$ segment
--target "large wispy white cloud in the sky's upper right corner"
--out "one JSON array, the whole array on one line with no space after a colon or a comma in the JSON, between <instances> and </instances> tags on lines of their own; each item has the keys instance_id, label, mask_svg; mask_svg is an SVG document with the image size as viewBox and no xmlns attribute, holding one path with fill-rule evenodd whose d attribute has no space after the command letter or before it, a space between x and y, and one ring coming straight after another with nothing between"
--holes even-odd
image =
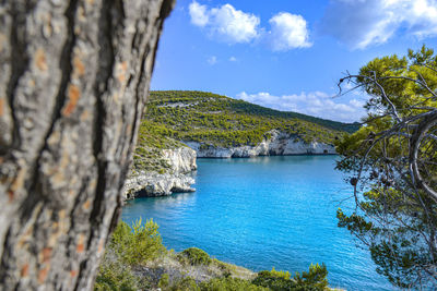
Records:
<instances>
[{"instance_id":1,"label":"large wispy white cloud in the sky's upper right corner","mask_svg":"<svg viewBox=\"0 0 437 291\"><path fill-rule=\"evenodd\" d=\"M358 49L383 44L397 33L437 36L437 0L333 0L322 31Z\"/></svg>"}]
</instances>

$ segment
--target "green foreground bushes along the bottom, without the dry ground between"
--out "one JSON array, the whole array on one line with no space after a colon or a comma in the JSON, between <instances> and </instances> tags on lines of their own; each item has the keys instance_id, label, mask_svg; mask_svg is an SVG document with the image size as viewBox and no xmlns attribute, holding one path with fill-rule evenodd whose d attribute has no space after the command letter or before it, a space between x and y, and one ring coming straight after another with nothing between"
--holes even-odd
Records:
<instances>
[{"instance_id":1,"label":"green foreground bushes along the bottom, without the dry ground between","mask_svg":"<svg viewBox=\"0 0 437 291\"><path fill-rule=\"evenodd\" d=\"M180 252L176 258L182 265L192 267L208 268L210 265L215 265L224 270L222 277L199 282L189 276L184 276L172 282L168 274L162 274L157 286L154 286L133 269L170 253L163 246L157 228L153 220L147 220L144 226L141 225L141 220L138 220L131 227L126 222L120 222L105 252L94 290L134 291L160 287L163 291L299 291L327 290L328 288L328 271L324 265L311 264L308 272L304 271L302 275L296 272L293 278L288 271L277 271L273 268L271 271L258 272L255 279L240 279L232 277L233 267L236 268L236 266L213 259L197 247Z\"/></svg>"}]
</instances>

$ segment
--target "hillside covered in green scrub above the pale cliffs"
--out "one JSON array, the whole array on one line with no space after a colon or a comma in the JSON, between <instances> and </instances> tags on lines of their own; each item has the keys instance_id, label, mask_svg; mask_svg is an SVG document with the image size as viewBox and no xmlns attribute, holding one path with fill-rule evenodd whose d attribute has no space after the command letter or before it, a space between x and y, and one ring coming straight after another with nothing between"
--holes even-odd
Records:
<instances>
[{"instance_id":1,"label":"hillside covered in green scrub above the pale cliffs","mask_svg":"<svg viewBox=\"0 0 437 291\"><path fill-rule=\"evenodd\" d=\"M333 143L358 125L277 111L212 93L162 90L151 92L139 145L172 147L173 138L205 146L256 145L273 129L305 142Z\"/></svg>"}]
</instances>

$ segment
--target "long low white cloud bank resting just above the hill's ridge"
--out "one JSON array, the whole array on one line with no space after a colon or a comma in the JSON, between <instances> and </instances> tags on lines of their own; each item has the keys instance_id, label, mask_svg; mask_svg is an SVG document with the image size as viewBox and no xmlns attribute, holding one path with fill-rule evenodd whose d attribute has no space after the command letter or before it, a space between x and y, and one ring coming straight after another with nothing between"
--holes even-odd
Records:
<instances>
[{"instance_id":1,"label":"long low white cloud bank resting just above the hill's ridge","mask_svg":"<svg viewBox=\"0 0 437 291\"><path fill-rule=\"evenodd\" d=\"M364 98L357 96L353 99L351 99L351 97L339 99L332 98L330 95L322 92L282 96L274 96L265 92L258 94L247 94L246 92L243 92L236 97L237 99L243 99L276 110L295 111L335 121L355 122L366 116L366 111L363 108Z\"/></svg>"}]
</instances>

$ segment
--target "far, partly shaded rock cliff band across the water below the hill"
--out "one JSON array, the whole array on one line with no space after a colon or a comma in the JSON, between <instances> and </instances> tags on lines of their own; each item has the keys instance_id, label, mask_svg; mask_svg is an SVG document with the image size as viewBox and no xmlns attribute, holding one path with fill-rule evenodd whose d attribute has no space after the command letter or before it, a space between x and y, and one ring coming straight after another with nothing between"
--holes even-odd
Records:
<instances>
[{"instance_id":1,"label":"far, partly shaded rock cliff band across the water below the hill","mask_svg":"<svg viewBox=\"0 0 437 291\"><path fill-rule=\"evenodd\" d=\"M199 158L248 158L256 156L288 156L288 155L334 155L335 147L330 144L312 142L305 143L300 138L277 130L269 132L271 137L256 146L239 147L204 147L198 142L185 142L196 150Z\"/></svg>"}]
</instances>

